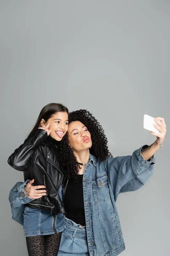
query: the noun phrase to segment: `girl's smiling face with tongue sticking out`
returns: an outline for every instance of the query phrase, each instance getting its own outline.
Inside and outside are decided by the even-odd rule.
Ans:
[[[44,119],[41,120],[42,127],[45,127],[48,123],[50,123],[48,129],[52,130],[50,136],[54,140],[60,141],[68,131],[68,113],[57,112],[47,122]]]

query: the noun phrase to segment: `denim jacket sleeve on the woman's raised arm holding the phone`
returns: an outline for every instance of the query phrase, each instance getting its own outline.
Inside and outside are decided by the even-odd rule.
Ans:
[[[142,187],[153,174],[153,155],[146,161],[141,154],[147,145],[135,150],[132,156],[108,158],[108,179],[115,201],[120,193],[135,191]]]

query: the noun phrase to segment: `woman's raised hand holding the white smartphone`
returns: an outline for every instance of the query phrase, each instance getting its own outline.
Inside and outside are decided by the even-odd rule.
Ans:
[[[156,143],[161,148],[163,146],[163,143],[164,143],[165,135],[166,135],[166,132],[167,132],[167,126],[166,126],[166,123],[164,121],[164,118],[162,118],[162,117],[156,117],[156,118],[154,118],[154,121],[156,122],[156,124],[153,124],[153,125],[156,129],[158,129],[158,131],[160,131],[160,133],[158,134],[158,133],[155,133],[155,132],[151,131],[151,134],[153,134],[154,136],[157,137]]]

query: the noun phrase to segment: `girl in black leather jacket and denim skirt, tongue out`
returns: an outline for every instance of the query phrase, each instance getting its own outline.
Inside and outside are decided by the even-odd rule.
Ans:
[[[8,158],[11,167],[24,171],[25,193],[21,193],[21,198],[25,200],[23,225],[29,256],[58,253],[65,228],[65,209],[59,197],[63,173],[58,146],[67,130],[68,109],[50,103],[42,108],[28,138]]]

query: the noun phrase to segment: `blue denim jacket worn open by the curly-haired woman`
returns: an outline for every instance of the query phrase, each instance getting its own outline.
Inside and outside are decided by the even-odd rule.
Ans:
[[[116,256],[125,250],[115,202],[120,193],[141,188],[153,174],[156,157],[151,157],[149,161],[144,160],[141,150],[146,147],[147,145],[144,145],[134,151],[132,156],[108,157],[103,162],[99,162],[96,157],[90,155],[83,175],[85,219],[90,256]],[[18,187],[18,194],[10,192],[13,204],[9,198],[13,219],[20,223],[23,223],[21,220],[22,204],[28,200],[28,198],[21,198],[23,186]],[[18,217],[16,217],[17,215]]]

